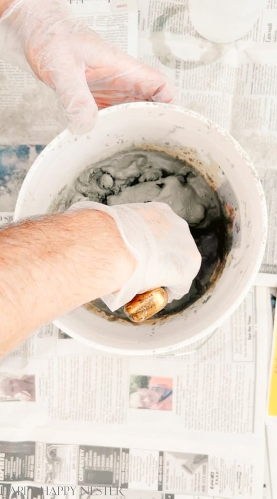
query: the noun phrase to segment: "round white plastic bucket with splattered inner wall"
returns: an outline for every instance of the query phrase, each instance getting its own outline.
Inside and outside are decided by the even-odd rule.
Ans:
[[[109,322],[79,307],[55,321],[70,336],[110,353],[156,355],[199,341],[220,326],[250,289],[262,262],[267,212],[249,158],[224,130],[202,116],[160,103],[131,103],[100,111],[84,136],[68,130],[38,156],[20,190],[15,220],[48,211],[60,190],[86,166],[131,147],[177,153],[216,186],[234,216],[233,246],[215,285],[188,309],[156,324]]]

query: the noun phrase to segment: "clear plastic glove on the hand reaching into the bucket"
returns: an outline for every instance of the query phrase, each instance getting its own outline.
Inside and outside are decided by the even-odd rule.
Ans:
[[[159,286],[169,301],[188,293],[201,266],[201,255],[187,222],[165,203],[133,203],[113,207],[83,201],[69,210],[94,209],[112,217],[128,250],[137,260],[128,281],[116,293],[101,296],[111,311],[136,294]],[[111,241],[112,245],[112,241]]]

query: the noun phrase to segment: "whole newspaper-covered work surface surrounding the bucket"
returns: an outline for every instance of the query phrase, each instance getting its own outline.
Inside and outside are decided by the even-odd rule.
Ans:
[[[228,129],[261,176],[259,286],[205,343],[107,355],[52,324],[0,361],[0,499],[270,498],[265,411],[277,287],[277,0],[231,44],[201,38],[186,0],[70,0],[100,34],[165,72],[184,106]],[[0,223],[64,128],[51,90],[0,62]],[[159,394],[159,397],[156,394]],[[265,466],[266,463],[266,466]]]

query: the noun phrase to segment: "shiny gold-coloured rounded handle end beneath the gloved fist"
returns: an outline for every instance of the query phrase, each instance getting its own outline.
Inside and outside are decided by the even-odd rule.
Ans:
[[[137,294],[126,303],[124,312],[132,322],[143,322],[160,312],[168,302],[167,292],[163,287]]]

